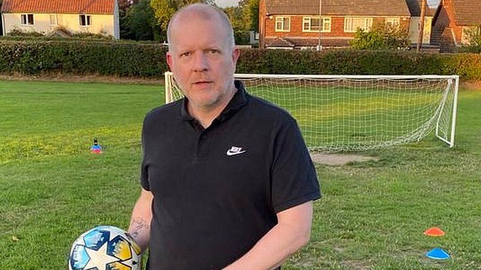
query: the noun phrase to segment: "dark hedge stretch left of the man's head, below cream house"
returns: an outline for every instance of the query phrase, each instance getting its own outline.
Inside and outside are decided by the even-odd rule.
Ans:
[[[0,73],[161,77],[161,44],[108,41],[0,41]]]

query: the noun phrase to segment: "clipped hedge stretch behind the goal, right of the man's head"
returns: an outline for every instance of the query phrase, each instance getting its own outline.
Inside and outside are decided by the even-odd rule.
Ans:
[[[238,73],[272,74],[459,74],[481,80],[481,55],[416,54],[406,51],[242,50]]]

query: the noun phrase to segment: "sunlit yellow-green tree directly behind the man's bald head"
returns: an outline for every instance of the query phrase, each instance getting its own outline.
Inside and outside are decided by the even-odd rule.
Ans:
[[[154,16],[163,32],[167,32],[169,20],[181,7],[192,3],[206,3],[215,6],[214,0],[151,0],[150,6],[154,10]]]

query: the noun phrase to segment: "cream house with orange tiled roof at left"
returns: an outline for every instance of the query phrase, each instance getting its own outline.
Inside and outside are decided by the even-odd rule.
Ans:
[[[117,0],[3,0],[3,34],[11,30],[52,33],[59,27],[120,37]]]

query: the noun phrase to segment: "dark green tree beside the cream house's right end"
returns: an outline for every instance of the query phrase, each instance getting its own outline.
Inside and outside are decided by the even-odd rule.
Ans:
[[[138,0],[126,9],[121,37],[134,40],[165,40],[149,0]]]

